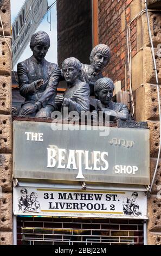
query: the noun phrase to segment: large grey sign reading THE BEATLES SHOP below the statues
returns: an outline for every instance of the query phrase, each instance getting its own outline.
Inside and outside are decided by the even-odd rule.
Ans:
[[[101,137],[55,127],[14,121],[15,178],[149,185],[149,130],[105,127]]]

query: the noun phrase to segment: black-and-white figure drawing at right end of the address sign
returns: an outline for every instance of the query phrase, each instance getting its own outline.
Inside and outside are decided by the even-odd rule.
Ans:
[[[123,202],[123,211],[125,215],[140,216],[139,205],[136,203],[138,193],[135,191],[130,198],[126,198],[126,202]]]

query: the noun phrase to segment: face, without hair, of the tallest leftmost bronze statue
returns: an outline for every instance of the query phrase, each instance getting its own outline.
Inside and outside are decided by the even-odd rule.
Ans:
[[[33,47],[32,51],[33,51],[34,57],[38,60],[38,62],[41,62],[44,59],[44,57],[46,57],[48,49],[49,49],[49,46],[43,45],[43,44],[37,44]]]

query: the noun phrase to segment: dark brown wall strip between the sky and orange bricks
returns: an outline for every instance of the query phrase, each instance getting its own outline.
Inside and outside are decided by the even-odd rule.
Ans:
[[[89,63],[92,50],[92,9],[89,0],[57,1],[57,58]]]

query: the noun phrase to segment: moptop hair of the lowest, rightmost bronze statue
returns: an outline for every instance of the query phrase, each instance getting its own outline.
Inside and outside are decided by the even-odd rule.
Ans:
[[[112,89],[112,90],[114,90],[113,81],[108,77],[98,79],[95,82],[95,85],[94,85],[94,92],[98,93],[102,89]]]

